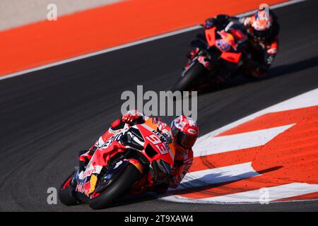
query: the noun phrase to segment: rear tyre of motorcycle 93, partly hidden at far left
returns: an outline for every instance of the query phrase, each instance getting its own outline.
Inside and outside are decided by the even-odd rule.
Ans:
[[[59,188],[59,201],[65,206],[74,206],[81,203],[75,198],[74,194],[75,189],[71,186],[71,176],[69,176]]]

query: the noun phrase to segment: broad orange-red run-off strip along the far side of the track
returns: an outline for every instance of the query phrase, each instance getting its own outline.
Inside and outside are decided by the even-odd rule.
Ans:
[[[278,4],[285,0],[267,0]],[[252,11],[261,0],[131,0],[0,32],[0,75]]]

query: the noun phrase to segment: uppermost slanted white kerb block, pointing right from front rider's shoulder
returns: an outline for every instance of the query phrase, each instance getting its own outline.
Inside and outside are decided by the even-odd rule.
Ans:
[[[261,129],[259,131],[247,133],[210,137],[208,139],[204,139],[203,141],[198,140],[194,147],[194,157],[225,153],[232,150],[241,150],[265,145],[280,133],[283,133],[294,125],[295,124],[290,124],[287,126],[278,126],[271,129]]]

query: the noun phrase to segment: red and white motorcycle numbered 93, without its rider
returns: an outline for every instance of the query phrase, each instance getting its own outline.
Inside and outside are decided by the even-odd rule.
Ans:
[[[76,167],[61,184],[61,203],[105,208],[126,194],[148,191],[170,174],[175,149],[153,119],[125,126],[118,133],[108,131],[106,139],[86,168]]]

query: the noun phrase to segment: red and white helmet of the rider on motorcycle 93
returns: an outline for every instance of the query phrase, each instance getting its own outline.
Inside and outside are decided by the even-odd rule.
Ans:
[[[199,126],[194,119],[180,115],[171,122],[170,133],[174,143],[184,149],[190,149],[199,136]]]

